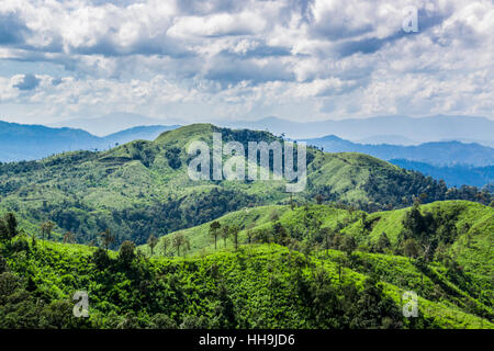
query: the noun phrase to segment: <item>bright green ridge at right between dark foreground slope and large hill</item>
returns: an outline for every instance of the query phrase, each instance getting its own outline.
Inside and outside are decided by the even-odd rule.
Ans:
[[[278,244],[333,263],[338,263],[341,251],[352,252],[347,263],[358,273],[378,274],[383,282],[419,292],[427,299],[492,319],[494,208],[448,201],[423,205],[419,215],[414,215],[414,210],[367,215],[326,205],[245,208],[217,219],[216,249],[211,223],[206,223],[165,236],[154,253],[177,256],[177,237],[186,238],[182,254],[192,258],[234,252],[235,242]],[[414,226],[422,223],[428,231],[416,230]],[[237,239],[234,233],[238,233]],[[417,242],[418,250],[407,259],[409,239]],[[350,249],[348,242],[355,242]],[[139,249],[150,254],[149,246]]]

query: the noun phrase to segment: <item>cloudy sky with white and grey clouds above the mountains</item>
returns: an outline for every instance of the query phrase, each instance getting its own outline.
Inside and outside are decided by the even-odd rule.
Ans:
[[[1,0],[0,120],[494,118],[493,33],[480,0]]]

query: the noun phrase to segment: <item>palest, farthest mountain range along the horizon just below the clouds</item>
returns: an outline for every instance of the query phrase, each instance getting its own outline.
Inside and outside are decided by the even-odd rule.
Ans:
[[[434,115],[408,117],[400,115],[350,118],[338,121],[291,122],[278,117],[257,121],[203,120],[228,128],[269,131],[290,138],[318,138],[337,135],[360,144],[418,145],[429,141],[458,140],[494,147],[494,121],[474,116]],[[136,126],[183,125],[172,118],[150,118],[141,114],[114,112],[99,117],[77,118],[50,124],[52,127],[85,129],[97,136],[104,136]]]

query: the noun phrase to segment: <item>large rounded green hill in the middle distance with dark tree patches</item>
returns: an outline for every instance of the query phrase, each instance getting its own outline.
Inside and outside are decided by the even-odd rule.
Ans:
[[[108,151],[66,152],[40,161],[0,166],[0,211],[13,211],[33,229],[55,222],[54,237],[70,230],[78,242],[96,240],[106,228],[144,244],[217,218],[243,207],[288,204],[284,181],[193,181],[186,147],[192,140],[272,141],[267,132],[232,131],[198,124],[165,132],[154,141],[137,140]],[[338,202],[371,212],[411,205],[414,197],[431,202],[467,199],[491,202],[475,189],[447,189],[431,178],[360,154],[324,154],[307,149],[307,188],[295,203]]]

